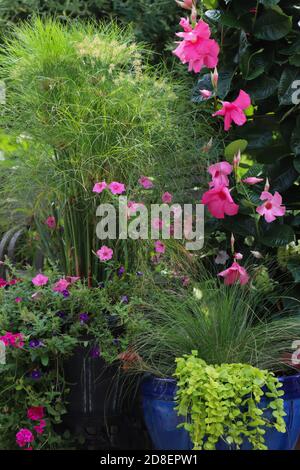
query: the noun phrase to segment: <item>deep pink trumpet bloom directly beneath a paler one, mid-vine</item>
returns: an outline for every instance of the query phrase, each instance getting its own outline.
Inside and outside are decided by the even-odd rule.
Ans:
[[[214,217],[224,219],[225,215],[236,215],[239,206],[233,201],[226,186],[218,186],[206,191],[202,196],[202,204],[205,204]]]

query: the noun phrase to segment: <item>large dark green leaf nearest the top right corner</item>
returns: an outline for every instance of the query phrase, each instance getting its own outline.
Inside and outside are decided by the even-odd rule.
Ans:
[[[290,16],[269,10],[256,21],[254,36],[264,41],[276,41],[284,38],[291,29],[292,18]]]

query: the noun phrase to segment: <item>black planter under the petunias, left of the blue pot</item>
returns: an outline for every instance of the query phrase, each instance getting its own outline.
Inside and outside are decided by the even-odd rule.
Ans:
[[[83,346],[65,362],[64,371],[70,394],[63,428],[81,437],[82,448],[149,449],[136,381]]]

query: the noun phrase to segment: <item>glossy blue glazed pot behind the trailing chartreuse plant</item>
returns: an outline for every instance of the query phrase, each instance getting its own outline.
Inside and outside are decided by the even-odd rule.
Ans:
[[[267,429],[265,441],[269,450],[292,450],[300,436],[300,374],[279,380],[283,383],[287,432]],[[184,420],[174,410],[175,380],[149,377],[144,380],[141,391],[144,419],[155,449],[192,450],[187,431],[177,429]],[[266,402],[267,399],[262,404]],[[230,450],[230,447],[222,441],[218,443],[217,450]],[[250,444],[245,441],[241,450],[251,450]]]

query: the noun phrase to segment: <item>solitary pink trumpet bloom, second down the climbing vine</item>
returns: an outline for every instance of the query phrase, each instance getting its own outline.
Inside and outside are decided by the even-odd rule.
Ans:
[[[240,90],[239,96],[232,103],[222,101],[222,109],[213,114],[213,116],[224,116],[224,129],[228,131],[232,121],[238,126],[243,126],[247,121],[244,110],[251,105],[251,99],[248,93]]]

